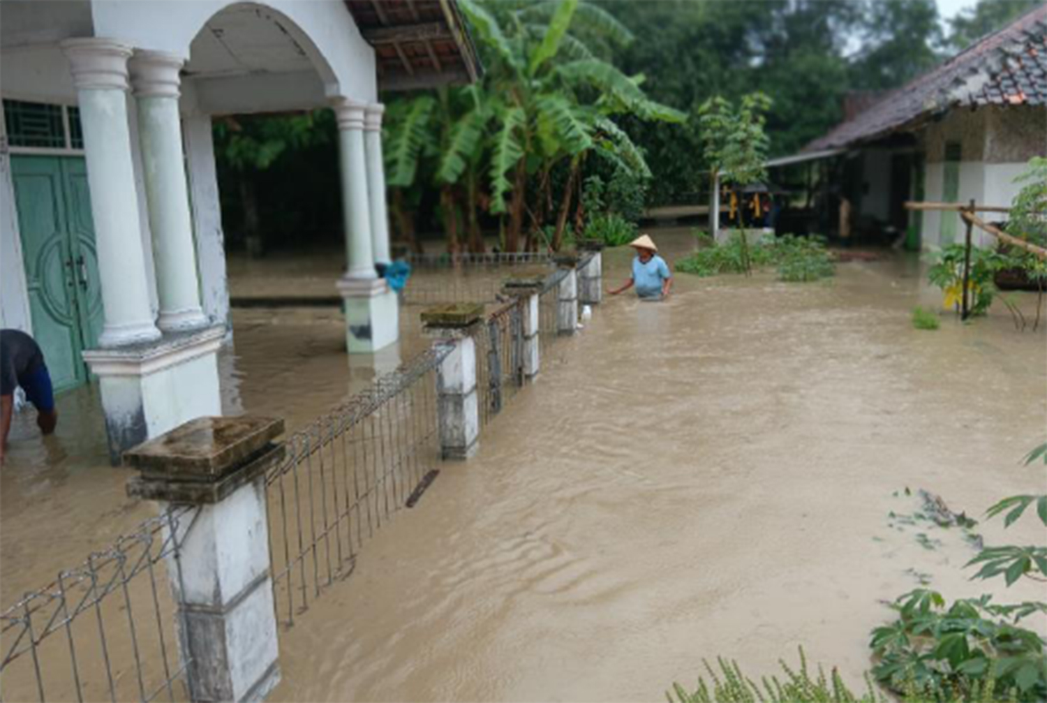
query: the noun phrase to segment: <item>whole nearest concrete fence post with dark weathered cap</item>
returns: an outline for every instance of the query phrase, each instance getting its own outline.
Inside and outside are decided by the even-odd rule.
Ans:
[[[190,698],[261,701],[280,682],[265,476],[284,421],[203,417],[129,449],[128,493],[192,506],[166,556]]]

